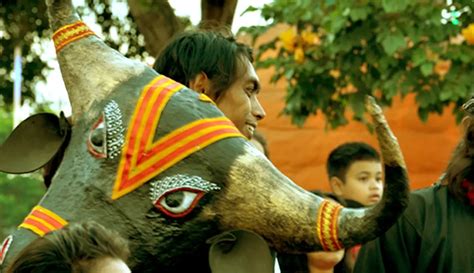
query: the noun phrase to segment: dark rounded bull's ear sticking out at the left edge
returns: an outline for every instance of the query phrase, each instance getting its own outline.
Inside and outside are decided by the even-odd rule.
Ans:
[[[64,115],[33,115],[18,125],[0,146],[0,171],[28,173],[43,167],[67,141],[70,125]]]

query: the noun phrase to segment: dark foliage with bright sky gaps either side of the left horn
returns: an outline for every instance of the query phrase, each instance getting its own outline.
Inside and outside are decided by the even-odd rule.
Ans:
[[[95,17],[102,27],[102,37],[112,48],[128,57],[143,59],[147,56],[143,36],[138,32],[130,13],[125,17],[113,13],[112,2],[86,0],[85,5],[77,10],[81,16]],[[45,1],[1,0],[0,101],[7,109],[13,99],[14,48],[19,46],[23,55],[22,97],[35,101],[35,86],[46,80],[50,69],[44,55],[45,44],[52,43],[51,36]]]

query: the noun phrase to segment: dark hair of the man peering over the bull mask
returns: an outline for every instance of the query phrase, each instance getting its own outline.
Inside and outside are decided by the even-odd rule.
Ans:
[[[243,61],[253,62],[252,49],[217,31],[187,31],[159,54],[153,69],[184,85],[204,72],[212,83],[213,99],[239,77]]]

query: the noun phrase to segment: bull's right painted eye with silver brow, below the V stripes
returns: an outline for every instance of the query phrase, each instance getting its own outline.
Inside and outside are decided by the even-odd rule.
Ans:
[[[167,216],[188,215],[205,193],[220,190],[214,183],[199,176],[174,175],[151,183],[153,205]]]

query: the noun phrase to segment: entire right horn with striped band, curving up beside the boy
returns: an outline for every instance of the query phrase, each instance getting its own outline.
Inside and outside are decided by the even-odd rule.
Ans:
[[[215,206],[206,210],[207,215],[218,215],[223,229],[257,232],[282,252],[334,251],[383,234],[407,206],[408,178],[382,110],[373,99],[366,105],[374,119],[386,175],[385,193],[377,206],[349,209],[324,200],[248,152],[234,163],[229,172],[233,182],[227,185],[225,197],[219,196]]]

